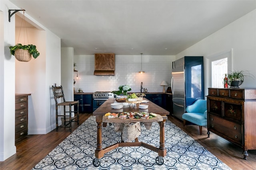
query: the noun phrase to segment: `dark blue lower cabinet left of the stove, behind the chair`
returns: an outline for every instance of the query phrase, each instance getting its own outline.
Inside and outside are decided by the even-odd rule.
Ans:
[[[79,113],[92,113],[92,94],[74,94],[74,101],[79,102]]]

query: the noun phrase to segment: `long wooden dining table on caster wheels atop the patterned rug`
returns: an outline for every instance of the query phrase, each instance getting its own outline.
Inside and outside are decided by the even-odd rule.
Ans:
[[[104,102],[98,109],[93,112],[93,115],[96,117],[97,123],[97,148],[95,150],[95,158],[93,160],[93,165],[95,167],[100,166],[100,158],[104,156],[105,153],[110,152],[117,147],[145,147],[147,149],[153,150],[154,152],[158,153],[156,157],[156,164],[162,165],[164,164],[164,156],[166,156],[166,148],[164,146],[164,123],[167,120],[167,115],[169,115],[169,111],[165,110],[164,108],[154,104],[153,102],[143,98],[144,102],[138,102],[136,104],[124,106],[121,109],[112,109],[111,104],[116,103],[116,98],[109,98]],[[122,104],[122,103],[120,103]],[[147,109],[140,109],[138,106],[146,104],[148,105]],[[155,113],[157,114],[156,117],[152,119],[108,119],[105,116],[106,113],[122,113],[122,112],[148,112],[148,113]],[[160,127],[160,142],[159,147],[152,146],[148,143],[139,142],[138,138],[135,139],[135,142],[124,142],[120,141],[114,145],[109,147],[103,148],[102,147],[102,127],[106,127],[107,123],[130,123],[130,122],[140,122],[141,124],[147,125],[146,129],[150,128],[148,125],[152,124],[152,122],[158,122]]]

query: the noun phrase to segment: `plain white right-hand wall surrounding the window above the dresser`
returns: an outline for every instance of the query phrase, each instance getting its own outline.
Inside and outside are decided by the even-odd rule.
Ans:
[[[256,88],[256,10],[182,51],[176,55],[176,59],[186,55],[208,57],[223,51],[230,51],[231,49],[233,49],[233,70],[249,70],[255,76],[254,79],[245,77],[244,83],[239,87]],[[205,67],[205,72],[206,70],[207,67]],[[205,81],[208,78],[206,77]],[[208,94],[208,87],[210,85],[206,84],[205,94]]]

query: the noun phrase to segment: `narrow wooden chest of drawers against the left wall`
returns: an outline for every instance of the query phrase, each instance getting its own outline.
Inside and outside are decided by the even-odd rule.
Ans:
[[[28,96],[15,95],[15,141],[28,135]]]

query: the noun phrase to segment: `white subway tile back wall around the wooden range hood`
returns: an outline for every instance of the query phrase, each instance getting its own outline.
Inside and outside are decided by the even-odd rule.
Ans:
[[[162,92],[162,80],[166,80],[168,84],[171,82],[172,61],[175,56],[142,55],[143,74],[138,73],[141,70],[141,55],[116,55],[115,60],[115,76],[95,76],[94,55],[75,55],[74,62],[78,70],[78,80],[74,72],[76,92],[78,88],[83,92],[112,91],[124,84],[131,86],[131,92],[139,92],[141,82],[148,92]]]

